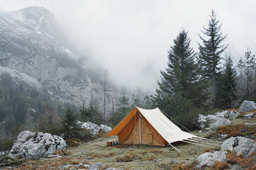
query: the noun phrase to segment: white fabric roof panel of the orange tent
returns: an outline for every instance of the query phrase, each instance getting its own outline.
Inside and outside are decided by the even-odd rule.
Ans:
[[[138,107],[137,107],[138,108]],[[146,120],[156,129],[159,134],[164,137],[164,140],[171,144],[172,142],[178,142],[188,140],[188,138],[197,137],[188,132],[182,131],[177,125],[171,122],[159,108],[151,110],[138,108]]]

